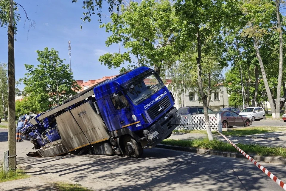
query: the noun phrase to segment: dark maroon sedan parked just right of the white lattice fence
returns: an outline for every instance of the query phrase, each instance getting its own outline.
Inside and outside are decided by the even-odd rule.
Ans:
[[[233,111],[214,111],[211,114],[220,115],[221,125],[223,128],[233,127],[233,126],[245,126],[251,125],[251,120],[247,117],[238,115]]]

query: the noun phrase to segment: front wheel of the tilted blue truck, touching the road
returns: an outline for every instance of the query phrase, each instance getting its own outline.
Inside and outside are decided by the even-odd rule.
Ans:
[[[125,152],[128,156],[139,158],[143,154],[143,148],[141,147],[141,144],[136,142],[132,137],[125,136],[123,143]]]

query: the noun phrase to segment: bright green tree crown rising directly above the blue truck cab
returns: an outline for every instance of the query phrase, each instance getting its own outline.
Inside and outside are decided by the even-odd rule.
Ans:
[[[121,72],[136,66],[148,66],[160,73],[177,60],[178,18],[169,1],[144,0],[140,4],[131,1],[122,6],[121,12],[113,13],[112,22],[100,27],[112,33],[105,42],[107,47],[120,43],[128,51],[106,53],[99,58],[101,64],[111,69],[129,63]]]

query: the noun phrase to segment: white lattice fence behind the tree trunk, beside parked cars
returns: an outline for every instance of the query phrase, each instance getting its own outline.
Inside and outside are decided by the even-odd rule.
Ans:
[[[217,115],[209,115],[209,122],[212,130],[216,128],[221,132],[220,117],[217,117]],[[205,116],[203,114],[182,117],[180,124],[182,125],[176,127],[176,130],[206,130]]]

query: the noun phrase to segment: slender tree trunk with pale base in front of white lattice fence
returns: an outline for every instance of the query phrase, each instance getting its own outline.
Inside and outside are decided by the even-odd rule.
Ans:
[[[202,67],[200,65],[200,61],[202,58],[201,55],[201,44],[200,44],[200,29],[199,25],[197,24],[197,42],[198,42],[198,57],[197,57],[197,70],[198,70],[198,86],[199,86],[199,92],[200,96],[202,97],[203,101],[203,110],[204,110],[204,116],[205,116],[205,122],[206,122],[206,132],[208,134],[208,138],[210,141],[212,141],[214,138],[212,137],[212,130],[209,123],[209,113],[208,113],[208,103],[206,94],[203,92],[203,83],[202,83]]]

